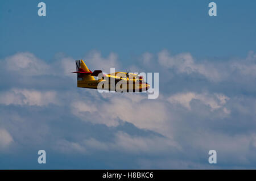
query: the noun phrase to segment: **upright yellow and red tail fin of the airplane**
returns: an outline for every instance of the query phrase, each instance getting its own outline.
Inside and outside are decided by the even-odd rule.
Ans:
[[[76,60],[77,81],[94,81],[92,71],[88,69],[83,60]]]

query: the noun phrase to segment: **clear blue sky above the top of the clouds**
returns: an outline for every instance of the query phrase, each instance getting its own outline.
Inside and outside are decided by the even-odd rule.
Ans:
[[[214,57],[246,56],[256,47],[254,1],[215,1],[214,18],[210,1],[44,1],[44,18],[38,2],[1,2],[0,57],[30,51],[51,61],[56,52],[79,58],[97,49],[133,61],[162,49]]]

